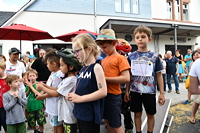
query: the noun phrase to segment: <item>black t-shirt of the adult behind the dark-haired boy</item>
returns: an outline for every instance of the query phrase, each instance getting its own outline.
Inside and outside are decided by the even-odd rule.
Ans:
[[[51,72],[47,68],[47,65],[42,61],[42,57],[36,59],[31,68],[35,69],[38,72],[37,81],[47,81]]]

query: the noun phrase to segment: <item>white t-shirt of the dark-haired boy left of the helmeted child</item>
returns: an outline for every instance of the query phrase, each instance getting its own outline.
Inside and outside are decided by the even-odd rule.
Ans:
[[[64,77],[61,71],[51,73],[46,84],[51,87],[58,87],[62,81],[61,77]],[[52,116],[58,116],[58,97],[46,98],[46,112]]]

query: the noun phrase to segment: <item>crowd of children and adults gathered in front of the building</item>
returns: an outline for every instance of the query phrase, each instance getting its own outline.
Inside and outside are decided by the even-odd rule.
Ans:
[[[103,29],[97,37],[77,35],[72,39],[72,50],[40,49],[37,59],[27,52],[19,60],[17,48],[9,50],[8,60],[0,55],[0,126],[6,133],[25,133],[27,122],[34,133],[43,133],[47,113],[54,133],[100,133],[102,121],[108,133],[132,133],[134,124],[136,133],[142,133],[144,106],[147,133],[153,133],[156,88],[160,92],[158,103],[163,105],[166,75],[169,93],[173,76],[180,94],[182,62],[186,61],[189,73],[187,62],[196,60],[197,55],[189,55],[188,50],[183,58],[180,50],[176,56],[167,51],[163,59],[148,49],[151,29],[138,26],[133,36],[138,46],[134,52],[130,52],[127,41],[115,37],[113,30]],[[193,66],[198,67],[195,63]],[[194,75],[193,71],[191,79],[196,78]],[[197,88],[197,84],[191,87]],[[192,93],[199,92],[192,89]],[[193,123],[198,106],[199,102],[193,105]]]

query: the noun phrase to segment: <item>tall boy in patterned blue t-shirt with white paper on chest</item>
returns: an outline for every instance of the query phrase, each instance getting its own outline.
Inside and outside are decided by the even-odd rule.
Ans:
[[[147,114],[148,131],[152,133],[154,128],[154,115],[156,113],[156,78],[160,88],[158,102],[160,105],[165,103],[163,78],[161,71],[162,63],[157,54],[148,50],[148,43],[152,40],[151,29],[139,26],[134,31],[134,41],[138,50],[129,54],[131,62],[131,108],[134,112],[136,133],[141,133],[142,104]],[[129,99],[129,89],[126,88],[125,98]]]

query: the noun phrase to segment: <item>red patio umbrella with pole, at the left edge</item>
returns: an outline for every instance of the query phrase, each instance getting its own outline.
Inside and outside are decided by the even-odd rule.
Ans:
[[[42,39],[54,39],[48,32],[35,29],[23,24],[14,24],[0,28],[0,40],[21,40],[35,41]]]

